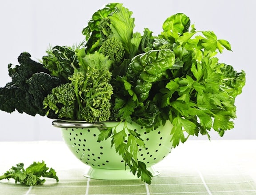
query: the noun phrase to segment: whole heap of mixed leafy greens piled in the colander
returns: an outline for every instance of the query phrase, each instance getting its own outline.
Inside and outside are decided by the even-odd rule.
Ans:
[[[210,138],[212,129],[220,136],[232,129],[245,72],[216,57],[232,51],[228,41],[197,31],[183,13],[168,17],[157,36],[148,28],[133,32],[134,27],[128,8],[107,4],[88,21],[81,44],[49,48],[41,64],[21,54],[20,66],[8,66],[12,82],[0,88],[0,109],[138,123],[147,132],[169,120],[174,147],[190,135]],[[102,130],[99,141],[104,139],[112,140],[134,175],[151,182],[151,173],[137,160],[138,146],[144,146],[139,134],[124,125],[121,132]]]

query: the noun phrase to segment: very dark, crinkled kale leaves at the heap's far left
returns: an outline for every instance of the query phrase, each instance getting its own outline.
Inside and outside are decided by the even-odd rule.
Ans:
[[[0,88],[0,109],[7,112],[15,110],[29,115],[45,115],[43,109],[44,97],[52,88],[60,84],[57,77],[49,75],[49,71],[34,60],[31,55],[23,52],[18,57],[20,65],[12,68],[8,65],[12,82]],[[52,113],[49,115],[51,116]]]

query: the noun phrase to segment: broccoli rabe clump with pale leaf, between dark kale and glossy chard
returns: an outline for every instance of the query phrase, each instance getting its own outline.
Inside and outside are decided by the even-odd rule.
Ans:
[[[55,111],[60,119],[108,121],[113,93],[108,59],[95,53],[79,56],[79,62],[80,68],[68,77],[70,83],[53,88],[44,99],[44,108],[48,108],[48,113]]]

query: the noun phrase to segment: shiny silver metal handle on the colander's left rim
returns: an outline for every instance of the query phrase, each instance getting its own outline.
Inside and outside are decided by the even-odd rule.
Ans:
[[[88,123],[85,121],[72,121],[72,120],[54,120],[52,121],[54,127],[62,128],[98,128],[99,130],[106,129],[104,123]]]

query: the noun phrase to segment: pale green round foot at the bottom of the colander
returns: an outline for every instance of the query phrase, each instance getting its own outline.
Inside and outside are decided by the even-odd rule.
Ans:
[[[153,177],[160,174],[154,167],[147,167]],[[136,175],[130,172],[130,169],[99,169],[91,167],[87,173],[84,173],[85,177],[91,179],[102,179],[102,180],[122,180],[122,179],[138,179]]]

